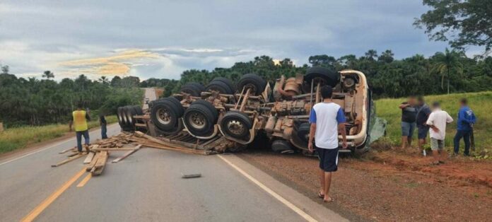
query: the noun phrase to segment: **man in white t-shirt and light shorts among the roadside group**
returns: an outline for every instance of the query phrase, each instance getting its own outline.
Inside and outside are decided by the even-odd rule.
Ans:
[[[452,122],[452,117],[446,111],[440,109],[440,104],[434,102],[432,112],[427,119],[427,125],[430,127],[430,148],[434,165],[444,163],[445,153],[444,139],[446,137],[446,124]]]

